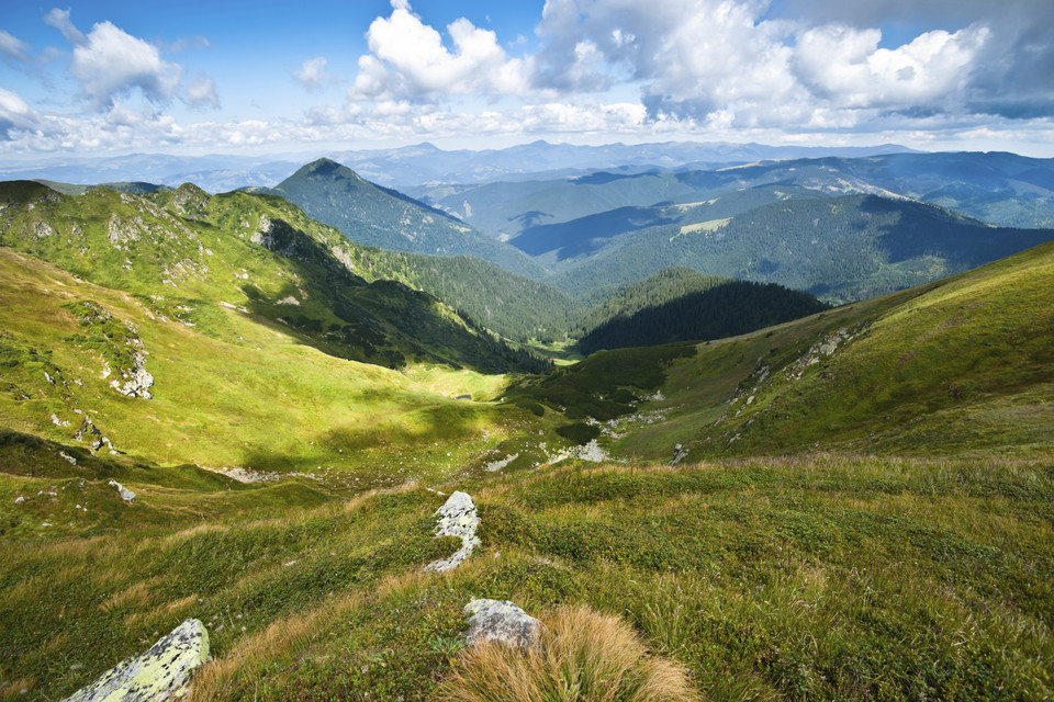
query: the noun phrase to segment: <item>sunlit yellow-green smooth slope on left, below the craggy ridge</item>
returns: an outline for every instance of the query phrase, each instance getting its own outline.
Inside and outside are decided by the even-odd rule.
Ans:
[[[106,339],[98,322],[82,325],[70,306],[82,301],[135,329],[153,399],[111,387],[128,344]],[[229,308],[211,319],[224,331],[217,338],[9,249],[0,249],[0,303],[4,426],[74,445],[88,445],[90,437],[75,439],[88,418],[117,450],[162,464],[333,466],[386,484],[460,465],[516,415],[453,399],[496,389],[469,371],[428,366],[412,378],[325,354]],[[440,451],[440,440],[457,448]]]

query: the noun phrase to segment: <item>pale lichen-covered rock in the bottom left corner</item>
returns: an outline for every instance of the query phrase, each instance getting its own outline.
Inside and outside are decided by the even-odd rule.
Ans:
[[[126,658],[63,702],[168,702],[190,691],[190,675],[209,660],[209,632],[188,619],[141,656]]]

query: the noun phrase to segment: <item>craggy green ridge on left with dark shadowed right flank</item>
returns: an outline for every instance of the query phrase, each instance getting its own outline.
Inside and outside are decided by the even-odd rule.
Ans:
[[[209,196],[192,185],[152,197],[105,189],[68,197],[36,183],[8,183],[0,192],[7,203],[0,244],[136,294],[158,314],[220,338],[223,326],[211,320],[226,305],[282,325],[326,353],[391,367],[537,366],[434,297],[356,275],[356,247],[281,199]]]

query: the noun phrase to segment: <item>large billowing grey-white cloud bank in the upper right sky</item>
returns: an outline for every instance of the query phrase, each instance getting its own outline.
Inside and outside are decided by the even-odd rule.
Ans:
[[[811,4],[826,7],[822,0]],[[907,11],[927,3],[838,4],[849,8],[841,11],[848,15],[864,4]],[[889,48],[881,46],[875,26],[807,23],[772,10],[764,0],[548,0],[537,29],[542,47],[530,57],[532,78],[536,86],[562,91],[638,84],[652,118],[828,128],[851,127],[887,111],[968,113],[985,94],[986,72],[994,93],[1007,83],[1008,69],[993,69],[1001,44],[998,23],[977,20],[955,32],[920,32]],[[1054,60],[1043,67],[1054,68]],[[1039,68],[1024,72],[1035,76]]]

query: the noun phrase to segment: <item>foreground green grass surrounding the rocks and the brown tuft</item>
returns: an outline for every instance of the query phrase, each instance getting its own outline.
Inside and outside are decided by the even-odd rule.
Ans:
[[[460,608],[491,597],[617,616],[714,700],[1054,689],[1043,463],[569,466],[461,487],[484,544],[449,575],[421,573],[455,547],[428,537],[444,498],[424,489],[249,518],[189,490],[216,495],[208,514],[7,540],[0,676],[65,695],[198,616],[216,659],[195,699],[423,700],[461,665]]]

